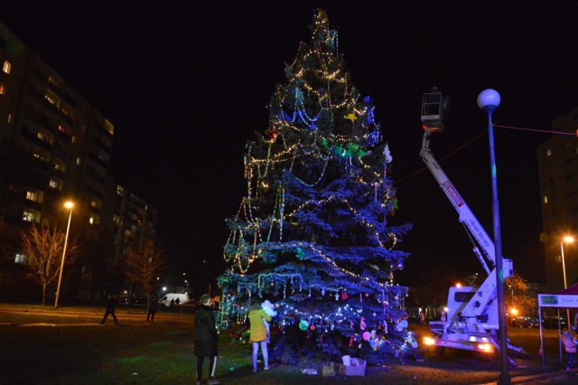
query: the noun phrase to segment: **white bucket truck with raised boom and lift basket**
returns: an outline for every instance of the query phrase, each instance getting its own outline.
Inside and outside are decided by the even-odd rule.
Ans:
[[[473,253],[486,271],[487,277],[479,287],[452,286],[447,301],[445,319],[430,322],[433,337],[427,337],[424,343],[435,346],[438,354],[444,348],[463,349],[474,352],[499,351],[499,316],[496,281],[495,247],[480,221],[461,198],[458,190],[443,173],[442,167],[433,157],[430,149],[430,137],[443,131],[443,113],[446,99],[441,92],[424,94],[422,101],[422,127],[424,138],[420,156],[424,164],[439,183],[453,208],[458,211],[458,219],[471,239]],[[504,279],[513,274],[511,259],[503,259]],[[508,349],[524,352],[521,348],[508,343]],[[510,360],[511,363],[513,363]]]

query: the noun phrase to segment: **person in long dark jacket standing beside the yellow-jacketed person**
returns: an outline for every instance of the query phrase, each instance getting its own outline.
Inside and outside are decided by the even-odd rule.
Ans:
[[[218,384],[215,380],[217,367],[217,341],[219,334],[215,326],[215,315],[210,295],[200,296],[200,305],[195,310],[195,355],[197,356],[197,384],[202,380],[202,364],[209,357],[209,384]]]

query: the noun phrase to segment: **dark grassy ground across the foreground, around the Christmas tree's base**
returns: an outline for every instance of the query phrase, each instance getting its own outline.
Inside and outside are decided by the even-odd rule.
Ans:
[[[107,324],[99,324],[103,314],[103,307],[75,306],[54,310],[51,306],[0,304],[0,343],[4,348],[0,359],[0,384],[195,383],[194,316],[191,313],[162,310],[152,324],[145,321],[144,308],[120,305],[117,308],[118,326],[110,318]],[[532,341],[536,340],[534,334]],[[528,340],[529,337],[519,338]],[[253,373],[249,345],[233,346],[229,334],[221,333],[217,378],[223,383],[251,385],[471,384],[495,383],[498,379],[496,361],[464,352],[453,354],[443,358],[426,354],[424,362],[369,366],[365,377],[346,377],[339,371],[335,377],[302,373],[306,368],[321,373],[321,362],[296,366],[273,363],[271,371]],[[550,357],[555,360],[554,352]],[[536,356],[522,363],[524,366],[512,371],[517,383],[566,383],[569,380],[564,369],[542,370]],[[207,366],[208,363],[204,368],[205,376]],[[578,379],[574,372],[571,375],[572,380]],[[523,380],[525,378],[527,380]]]

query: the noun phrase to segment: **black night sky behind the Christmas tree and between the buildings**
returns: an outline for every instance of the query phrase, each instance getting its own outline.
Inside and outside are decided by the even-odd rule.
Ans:
[[[386,4],[392,3],[392,4]],[[321,6],[340,33],[351,80],[370,95],[394,157],[400,209],[414,223],[400,284],[432,267],[479,271],[469,240],[419,152],[421,97],[452,98],[433,153],[489,234],[487,117],[476,99],[498,89],[499,125],[548,130],[578,106],[578,4],[462,2],[0,1],[0,22],[116,125],[111,174],[160,209],[160,235],[183,271],[223,268],[225,218],[244,190],[247,139],[267,127],[284,62],[309,39]],[[508,4],[502,4],[508,3]],[[530,5],[531,4],[531,5]],[[536,146],[549,136],[496,129],[504,255],[544,281]],[[413,176],[410,176],[413,175]]]

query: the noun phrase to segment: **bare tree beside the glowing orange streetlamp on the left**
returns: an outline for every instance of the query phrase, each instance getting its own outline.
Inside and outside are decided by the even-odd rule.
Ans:
[[[46,289],[59,277],[65,233],[58,227],[36,226],[20,231],[24,263],[28,268],[26,277],[42,286],[42,305],[46,305]],[[69,241],[65,264],[76,260],[79,245],[76,239]]]

